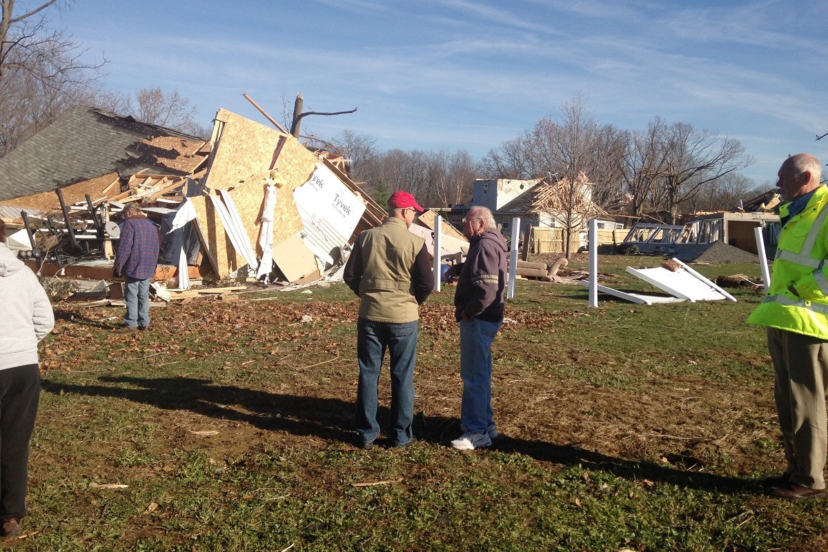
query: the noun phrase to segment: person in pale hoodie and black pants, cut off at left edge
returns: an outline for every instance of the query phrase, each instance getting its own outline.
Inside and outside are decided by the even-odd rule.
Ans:
[[[55,327],[46,290],[5,245],[0,220],[0,535],[26,515],[29,440],[40,401],[37,343]]]

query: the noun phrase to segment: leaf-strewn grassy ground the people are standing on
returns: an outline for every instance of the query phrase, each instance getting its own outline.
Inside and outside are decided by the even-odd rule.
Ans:
[[[602,283],[646,291],[601,257]],[[585,267],[585,259],[570,268]],[[695,266],[759,276],[758,266]],[[503,437],[461,453],[452,289],[421,310],[417,440],[354,447],[357,303],[329,288],[122,312],[55,305],[16,550],[823,550],[782,468],[758,304],[633,305],[518,281],[493,346]],[[388,416],[383,374],[381,412]]]

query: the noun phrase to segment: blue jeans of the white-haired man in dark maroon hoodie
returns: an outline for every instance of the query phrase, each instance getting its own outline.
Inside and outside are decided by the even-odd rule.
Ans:
[[[460,320],[460,377],[463,402],[460,429],[486,433],[494,424],[492,411],[492,342],[502,322]]]

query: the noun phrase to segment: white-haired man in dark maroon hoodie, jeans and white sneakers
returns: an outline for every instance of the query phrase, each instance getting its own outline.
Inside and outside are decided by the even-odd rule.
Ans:
[[[460,429],[451,441],[460,450],[491,446],[498,436],[492,410],[492,342],[503,324],[506,290],[506,240],[494,223],[492,212],[472,207],[463,218],[469,238],[465,262],[452,266],[448,276],[458,276],[455,319],[460,323]]]

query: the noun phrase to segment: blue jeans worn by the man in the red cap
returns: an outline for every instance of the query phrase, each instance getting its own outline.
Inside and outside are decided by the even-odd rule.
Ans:
[[[388,436],[394,444],[412,440],[414,421],[414,360],[418,320],[402,324],[357,321],[357,358],[359,358],[359,386],[357,387],[356,429],[363,443],[377,439],[377,401],[379,370],[385,350],[391,356],[391,431]]]

